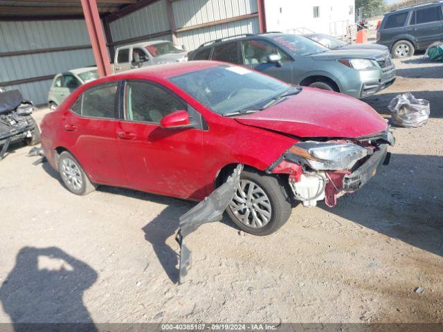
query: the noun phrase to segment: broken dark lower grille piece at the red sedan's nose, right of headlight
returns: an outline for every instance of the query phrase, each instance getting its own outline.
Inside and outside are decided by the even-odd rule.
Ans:
[[[379,148],[374,151],[374,154],[368,158],[359,168],[351,174],[343,177],[343,190],[346,192],[354,192],[359,190],[365,183],[368,183],[370,178],[375,175],[377,168],[382,163],[389,162],[388,145],[379,145]]]

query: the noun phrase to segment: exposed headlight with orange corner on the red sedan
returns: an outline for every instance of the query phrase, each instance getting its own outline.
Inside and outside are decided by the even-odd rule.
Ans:
[[[352,143],[298,142],[287,152],[303,158],[318,171],[349,169],[357,160],[368,156],[368,150]]]

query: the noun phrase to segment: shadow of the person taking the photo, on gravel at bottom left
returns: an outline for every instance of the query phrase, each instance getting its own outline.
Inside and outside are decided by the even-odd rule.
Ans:
[[[0,302],[16,332],[44,329],[34,323],[71,322],[98,331],[82,299],[97,277],[93,268],[60,248],[24,247],[0,287]]]

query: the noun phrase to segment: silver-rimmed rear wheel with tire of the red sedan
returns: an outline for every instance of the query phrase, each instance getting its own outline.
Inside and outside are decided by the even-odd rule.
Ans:
[[[96,186],[89,181],[80,163],[68,151],[60,154],[58,172],[65,187],[73,194],[82,196],[96,190]]]

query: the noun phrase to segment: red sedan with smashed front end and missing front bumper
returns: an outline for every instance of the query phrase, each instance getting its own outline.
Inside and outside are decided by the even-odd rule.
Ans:
[[[278,230],[297,201],[336,205],[393,144],[364,102],[219,62],[84,84],[42,122],[48,162],[79,195],[112,185],[199,201],[244,164],[227,212],[257,235]]]

